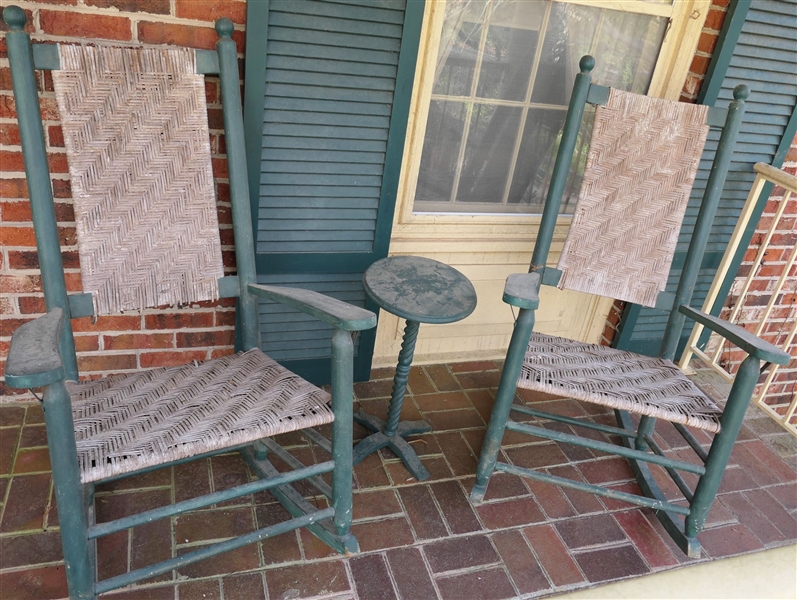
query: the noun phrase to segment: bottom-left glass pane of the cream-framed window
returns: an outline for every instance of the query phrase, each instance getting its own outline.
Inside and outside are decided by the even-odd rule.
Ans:
[[[467,117],[466,106],[464,102],[432,100],[415,191],[416,202],[450,201]]]

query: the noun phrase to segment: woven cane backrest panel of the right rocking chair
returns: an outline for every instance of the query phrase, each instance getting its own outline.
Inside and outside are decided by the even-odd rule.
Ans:
[[[592,142],[559,286],[654,306],[708,134],[708,107],[612,89]]]

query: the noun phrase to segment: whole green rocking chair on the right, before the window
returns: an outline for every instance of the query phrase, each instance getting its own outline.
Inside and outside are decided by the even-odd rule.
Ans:
[[[595,61],[581,59],[568,107],[540,231],[527,274],[510,275],[504,302],[518,307],[471,500],[484,499],[495,471],[587,491],[652,508],[689,556],[700,555],[703,527],[731,448],[758,380],[761,362],[786,364],[789,356],[747,331],[688,306],[749,92],[740,85],[727,110],[647,98],[590,82]],[[584,180],[556,269],[546,267],[561,199],[586,103],[598,105]],[[686,202],[709,126],[722,128],[713,168],[675,294],[664,292]],[[669,313],[658,358],[532,333],[540,285],[612,296]],[[745,350],[724,411],[672,362],[685,317],[702,323]],[[615,409],[618,427],[514,404],[516,387],[575,398]],[[566,426],[586,427],[622,439],[571,435],[509,419],[510,411]],[[629,412],[641,415],[634,430]],[[653,438],[657,419],[670,421],[700,461],[668,456]],[[713,432],[706,451],[686,428]],[[574,481],[499,462],[504,431],[539,436],[626,457],[643,495]],[[593,434],[594,435],[594,434]],[[666,470],[687,506],[665,497],[649,464]],[[679,470],[699,476],[690,489]]]

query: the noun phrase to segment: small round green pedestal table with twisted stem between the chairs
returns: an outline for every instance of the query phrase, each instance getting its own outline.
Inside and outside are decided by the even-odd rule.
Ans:
[[[418,256],[391,256],[375,262],[363,275],[363,285],[380,308],[405,319],[406,326],[387,420],[363,410],[354,413],[355,422],[374,432],[354,448],[354,464],[387,446],[415,479],[423,481],[429,477],[429,471],[404,438],[431,431],[432,426],[426,421],[399,423],[418,328],[421,323],[453,323],[464,319],[476,308],[476,290],[456,269]]]

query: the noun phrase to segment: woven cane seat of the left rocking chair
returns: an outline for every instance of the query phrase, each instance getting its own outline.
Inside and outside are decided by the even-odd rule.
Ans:
[[[84,483],[333,421],[329,394],[257,349],[68,385]]]

